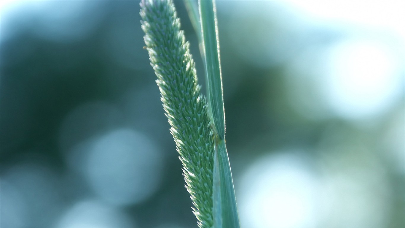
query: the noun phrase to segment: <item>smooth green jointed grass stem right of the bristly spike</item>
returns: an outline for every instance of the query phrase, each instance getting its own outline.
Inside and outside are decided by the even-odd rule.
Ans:
[[[209,106],[215,124],[213,216],[215,228],[239,228],[232,173],[225,146],[225,112],[219,54],[218,26],[213,0],[199,0]]]

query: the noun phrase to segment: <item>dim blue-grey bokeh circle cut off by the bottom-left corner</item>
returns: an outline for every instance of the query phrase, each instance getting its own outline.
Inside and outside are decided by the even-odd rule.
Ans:
[[[0,180],[0,227],[50,227],[62,211],[60,176],[33,160],[4,170]]]

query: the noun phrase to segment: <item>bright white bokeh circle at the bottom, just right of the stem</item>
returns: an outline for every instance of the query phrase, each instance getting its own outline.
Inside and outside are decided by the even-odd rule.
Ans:
[[[242,227],[315,227],[320,186],[296,153],[266,155],[250,166],[237,189]]]

